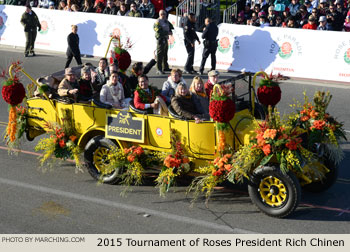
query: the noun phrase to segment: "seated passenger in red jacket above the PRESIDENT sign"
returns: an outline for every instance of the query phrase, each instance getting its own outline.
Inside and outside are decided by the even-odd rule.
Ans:
[[[138,81],[139,85],[134,92],[135,108],[143,110],[151,109],[155,114],[167,115],[165,97],[160,94],[160,90],[148,85],[148,77],[145,74],[140,75]]]

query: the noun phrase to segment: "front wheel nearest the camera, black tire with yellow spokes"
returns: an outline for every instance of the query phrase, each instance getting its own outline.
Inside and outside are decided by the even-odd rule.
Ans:
[[[248,192],[252,202],[263,213],[276,218],[293,213],[301,198],[296,176],[292,172],[284,174],[275,166],[257,168],[248,184]]]

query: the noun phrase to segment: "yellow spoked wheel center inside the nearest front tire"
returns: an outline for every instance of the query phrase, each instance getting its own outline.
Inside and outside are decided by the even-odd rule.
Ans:
[[[262,201],[272,207],[281,206],[287,199],[287,189],[276,177],[263,178],[258,190]]]

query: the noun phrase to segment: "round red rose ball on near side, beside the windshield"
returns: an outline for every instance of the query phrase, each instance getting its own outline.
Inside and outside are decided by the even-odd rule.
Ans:
[[[209,104],[209,114],[214,121],[228,123],[234,117],[236,105],[231,99],[212,100]]]

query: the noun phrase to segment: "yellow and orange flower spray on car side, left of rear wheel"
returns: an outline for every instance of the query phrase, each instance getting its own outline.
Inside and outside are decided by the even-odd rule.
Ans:
[[[73,159],[76,171],[82,171],[82,150],[77,144],[78,136],[73,126],[71,112],[62,110],[62,115],[62,125],[48,122],[45,130],[49,136],[40,139],[35,146],[35,151],[43,151],[43,155],[39,157],[40,166],[46,171],[46,166],[52,169],[58,160]]]

